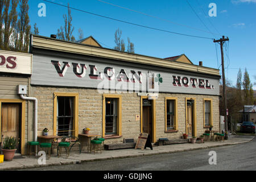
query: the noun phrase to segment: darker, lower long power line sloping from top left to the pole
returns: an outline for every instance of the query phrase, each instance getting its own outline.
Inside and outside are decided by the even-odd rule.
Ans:
[[[162,30],[162,29],[159,29],[159,28],[143,26],[143,25],[141,25],[141,24],[126,22],[126,21],[124,21],[124,20],[119,20],[119,19],[115,19],[115,18],[110,18],[110,17],[108,17],[108,16],[103,16],[103,15],[99,15],[99,14],[95,14],[95,13],[90,13],[89,11],[84,11],[84,10],[76,9],[76,8],[74,8],[74,7],[69,7],[69,6],[61,5],[61,4],[56,3],[56,2],[51,2],[51,1],[47,1],[47,0],[43,0],[43,1],[49,2],[49,3],[52,3],[52,4],[55,4],[55,5],[63,6],[63,7],[68,7],[68,8],[73,9],[73,10],[81,11],[81,12],[83,12],[83,13],[88,13],[88,14],[100,16],[100,17],[102,17],[102,18],[107,18],[107,19],[115,20],[115,21],[122,22],[122,23],[132,24],[132,25],[134,25],[134,26],[144,27],[144,28],[148,28],[148,29],[151,29],[151,30],[158,30],[158,31],[167,32],[167,33],[171,33],[171,34],[176,34],[176,35],[191,36],[191,37],[194,37],[194,38],[212,39],[212,38],[207,38],[207,37],[203,37],[203,36],[181,34],[181,33],[178,33],[178,32],[172,32],[172,31]],[[213,40],[213,39],[212,39],[212,40]]]

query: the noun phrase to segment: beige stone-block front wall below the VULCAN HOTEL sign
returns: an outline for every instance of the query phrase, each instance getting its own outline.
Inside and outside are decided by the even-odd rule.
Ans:
[[[84,127],[89,127],[93,133],[102,135],[102,99],[103,94],[94,89],[52,88],[31,86],[30,97],[38,98],[38,135],[47,127],[49,134],[53,130],[53,95],[55,92],[79,93],[79,134]],[[122,96],[122,137],[106,139],[105,143],[123,142],[123,138],[134,138],[137,141],[141,132],[141,121],[136,121],[136,115],[141,115],[141,97],[137,93],[116,93]],[[165,133],[165,97],[177,97],[177,132]],[[203,98],[211,98],[213,103],[214,130],[219,129],[218,96],[202,96],[190,94],[160,93],[156,100],[155,121],[156,140],[158,138],[177,139],[185,133],[185,98],[196,98],[197,136],[204,133]]]

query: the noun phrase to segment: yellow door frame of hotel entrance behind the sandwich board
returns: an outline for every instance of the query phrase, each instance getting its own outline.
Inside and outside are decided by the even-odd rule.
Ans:
[[[145,98],[148,99],[148,96],[141,96],[141,133],[143,132],[143,130],[142,130],[142,127],[143,127],[143,125],[142,125],[142,121],[143,121],[142,111],[143,111],[143,99],[145,99]],[[153,139],[151,142],[155,143],[156,142],[155,100],[152,100],[151,109],[152,109],[151,114],[152,114],[152,139]]]

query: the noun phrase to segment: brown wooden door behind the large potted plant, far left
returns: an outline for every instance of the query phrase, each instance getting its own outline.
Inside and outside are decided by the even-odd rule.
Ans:
[[[1,110],[1,135],[3,138],[15,137],[17,139],[17,148],[19,142],[19,104],[2,104]]]

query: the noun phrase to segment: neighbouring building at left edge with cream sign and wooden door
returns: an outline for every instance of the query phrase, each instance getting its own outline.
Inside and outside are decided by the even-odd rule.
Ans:
[[[17,152],[26,154],[28,107],[33,104],[20,97],[27,94],[32,72],[32,55],[0,51],[0,136],[17,139]],[[24,88],[19,88],[23,85]],[[19,90],[20,89],[20,90]],[[24,89],[24,90],[22,90]]]

